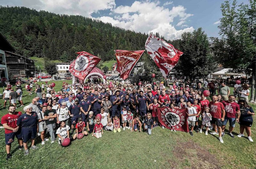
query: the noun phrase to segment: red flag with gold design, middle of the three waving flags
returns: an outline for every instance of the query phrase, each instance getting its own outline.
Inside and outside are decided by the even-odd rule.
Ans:
[[[141,55],[145,50],[129,51],[129,50],[115,50],[117,61],[117,71],[120,77],[126,79],[132,72]]]

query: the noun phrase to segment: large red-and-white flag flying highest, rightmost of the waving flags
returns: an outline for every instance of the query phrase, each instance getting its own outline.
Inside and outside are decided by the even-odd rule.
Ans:
[[[178,63],[180,56],[183,54],[183,52],[175,49],[171,44],[152,34],[149,35],[145,43],[145,49],[155,61],[164,77],[170,73],[172,68]]]

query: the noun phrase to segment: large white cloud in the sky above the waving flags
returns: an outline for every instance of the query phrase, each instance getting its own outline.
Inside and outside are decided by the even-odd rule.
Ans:
[[[131,6],[118,6],[112,13],[117,16],[99,17],[103,22],[111,23],[113,26],[122,27],[125,29],[134,30],[142,33],[158,32],[166,39],[178,39],[184,32],[192,32],[193,27],[185,25],[186,19],[193,14],[186,13],[186,8],[183,6],[173,6],[171,10],[163,6],[159,6],[160,2],[139,2],[135,1]],[[172,26],[174,18],[180,19],[177,26],[188,27],[181,30],[176,30]]]

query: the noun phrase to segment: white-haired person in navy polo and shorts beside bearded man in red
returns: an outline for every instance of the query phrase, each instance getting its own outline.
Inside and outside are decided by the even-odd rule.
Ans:
[[[34,99],[33,99],[34,100]],[[38,149],[37,146],[35,146],[35,138],[36,138],[36,128],[37,128],[37,113],[35,111],[32,111],[32,106],[29,104],[23,108],[23,111],[25,111],[24,114],[22,114],[18,120],[17,120],[17,126],[21,127],[21,134],[23,139],[23,146],[24,146],[24,155],[28,155],[28,140],[31,141],[31,147],[30,149]]]

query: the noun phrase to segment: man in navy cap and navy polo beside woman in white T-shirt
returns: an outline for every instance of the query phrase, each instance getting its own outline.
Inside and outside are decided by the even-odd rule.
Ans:
[[[68,114],[71,117],[71,129],[74,130],[74,125],[77,123],[77,119],[80,117],[80,105],[79,99],[75,98],[75,103],[68,107]]]

